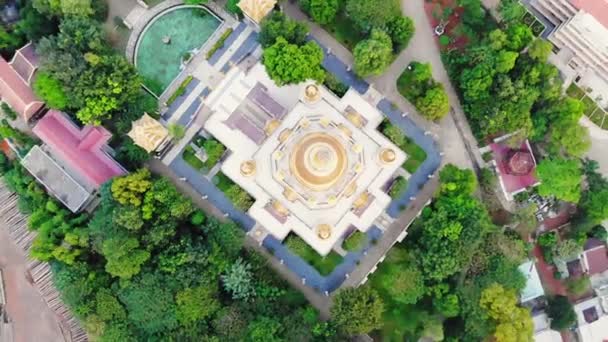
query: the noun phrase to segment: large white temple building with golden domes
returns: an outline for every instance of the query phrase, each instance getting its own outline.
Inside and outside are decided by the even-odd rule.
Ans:
[[[205,130],[231,152],[222,172],[255,198],[249,215],[277,239],[293,231],[327,255],[391,202],[386,188],[406,155],[356,91],[340,99],[311,82],[278,87],[258,63],[231,70],[206,103]]]

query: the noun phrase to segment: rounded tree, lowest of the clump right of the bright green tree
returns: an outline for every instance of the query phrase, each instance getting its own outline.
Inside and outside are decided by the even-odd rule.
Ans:
[[[393,59],[393,43],[386,32],[374,29],[368,39],[362,40],[353,51],[355,72],[365,77],[381,74]]]

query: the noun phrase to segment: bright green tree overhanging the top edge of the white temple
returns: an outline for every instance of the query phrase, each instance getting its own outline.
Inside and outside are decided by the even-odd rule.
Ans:
[[[290,44],[283,37],[264,50],[263,63],[270,78],[278,85],[297,84],[306,80],[323,82],[323,51],[315,42],[302,46]]]

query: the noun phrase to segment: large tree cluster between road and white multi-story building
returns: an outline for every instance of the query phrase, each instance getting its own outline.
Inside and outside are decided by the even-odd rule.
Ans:
[[[584,107],[562,95],[557,69],[547,63],[551,45],[517,22],[521,9],[503,1],[505,29],[480,27],[479,43],[449,52],[444,61],[479,139],[518,131],[545,141],[554,156],[580,157],[590,146],[587,129],[578,124]]]

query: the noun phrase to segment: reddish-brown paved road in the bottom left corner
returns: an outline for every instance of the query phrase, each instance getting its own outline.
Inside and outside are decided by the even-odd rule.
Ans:
[[[60,342],[63,334],[55,314],[26,277],[26,259],[4,227],[0,227],[0,268],[4,273],[7,311],[15,342]]]

